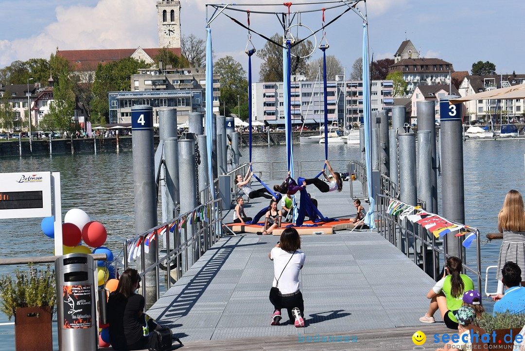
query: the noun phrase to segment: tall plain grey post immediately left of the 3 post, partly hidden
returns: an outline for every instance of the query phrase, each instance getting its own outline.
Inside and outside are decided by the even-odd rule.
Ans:
[[[427,210],[437,214],[437,158],[436,158],[436,113],[434,101],[417,101],[417,130],[430,131],[430,153],[432,163],[432,201]]]

